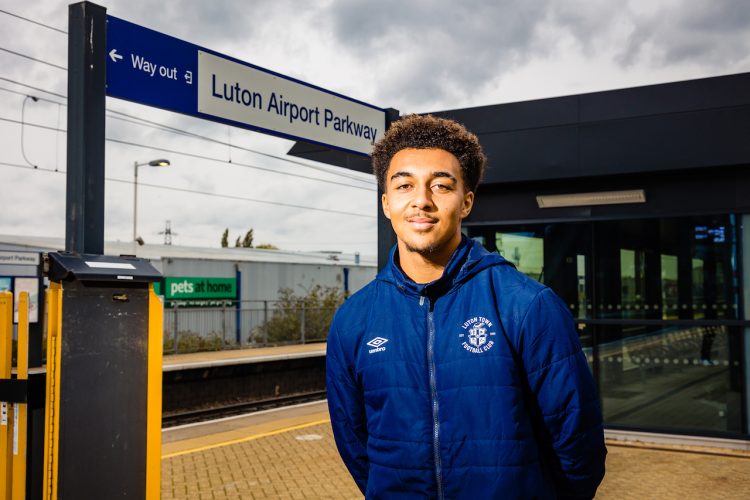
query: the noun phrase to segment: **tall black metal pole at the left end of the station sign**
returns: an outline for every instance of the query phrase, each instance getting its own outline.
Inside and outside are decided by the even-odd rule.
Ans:
[[[107,9],[68,7],[68,179],[65,250],[104,253]]]

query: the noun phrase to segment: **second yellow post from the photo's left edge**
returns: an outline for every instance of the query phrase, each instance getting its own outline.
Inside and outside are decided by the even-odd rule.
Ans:
[[[18,347],[16,379],[29,379],[29,294],[18,297]],[[26,403],[13,405],[13,500],[26,498]]]

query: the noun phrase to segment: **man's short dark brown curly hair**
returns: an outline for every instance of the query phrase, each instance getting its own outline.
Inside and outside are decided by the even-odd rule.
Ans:
[[[476,192],[482,180],[487,157],[477,136],[447,118],[432,115],[406,115],[393,122],[372,151],[372,170],[378,186],[385,191],[385,176],[391,159],[402,149],[442,149],[461,165],[467,191]]]

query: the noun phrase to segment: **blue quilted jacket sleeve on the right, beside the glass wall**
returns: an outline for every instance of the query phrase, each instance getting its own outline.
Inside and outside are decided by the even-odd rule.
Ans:
[[[565,304],[545,288],[522,322],[521,356],[559,498],[593,498],[607,449],[593,377]]]

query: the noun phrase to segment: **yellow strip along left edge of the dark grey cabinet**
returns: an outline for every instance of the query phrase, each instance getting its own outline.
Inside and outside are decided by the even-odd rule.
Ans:
[[[47,396],[44,423],[44,486],[42,498],[57,500],[57,446],[60,440],[60,322],[62,285],[51,282],[47,309]]]

